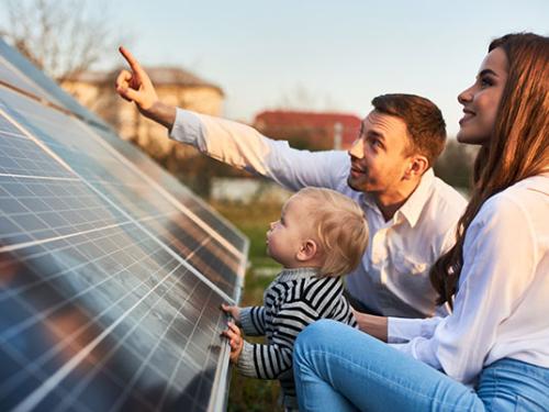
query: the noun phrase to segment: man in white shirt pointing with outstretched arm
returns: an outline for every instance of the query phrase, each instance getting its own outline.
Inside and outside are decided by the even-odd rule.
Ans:
[[[160,102],[137,60],[123,47],[120,51],[132,71],[120,73],[116,91],[165,125],[171,138],[288,189],[326,187],[359,203],[370,225],[370,243],[361,265],[347,277],[356,309],[382,316],[434,314],[429,268],[453,244],[467,203],[434,176],[432,166],[442,152],[446,130],[433,102],[411,94],[377,97],[348,154],[311,153],[247,125]]]

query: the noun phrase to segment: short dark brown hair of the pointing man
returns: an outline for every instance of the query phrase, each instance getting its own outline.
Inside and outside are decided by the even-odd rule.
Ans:
[[[446,123],[435,103],[415,94],[382,94],[372,100],[372,105],[380,113],[401,119],[412,143],[408,154],[421,154],[429,166],[434,165],[446,142]]]

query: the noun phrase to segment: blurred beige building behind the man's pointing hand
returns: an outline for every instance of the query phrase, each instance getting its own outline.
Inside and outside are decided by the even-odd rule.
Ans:
[[[166,103],[210,115],[222,114],[225,94],[221,87],[177,67],[145,67],[145,70]],[[141,115],[134,104],[116,94],[114,81],[119,71],[86,71],[66,79],[61,87],[110,123],[123,138],[135,142],[155,158],[165,159],[175,151],[182,157],[195,154],[183,145],[176,149],[175,143],[166,138],[164,126]]]

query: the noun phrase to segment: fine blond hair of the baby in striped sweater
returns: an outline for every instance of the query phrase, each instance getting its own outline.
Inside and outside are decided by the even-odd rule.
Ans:
[[[368,245],[368,223],[360,207],[330,189],[305,188],[294,194],[306,199],[313,233],[324,264],[321,276],[343,276],[355,269]]]

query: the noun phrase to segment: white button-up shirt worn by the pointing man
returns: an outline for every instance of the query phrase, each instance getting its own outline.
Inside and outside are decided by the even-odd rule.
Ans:
[[[247,125],[180,109],[170,137],[287,189],[324,187],[356,200],[368,220],[370,242],[359,267],[346,277],[349,293],[386,316],[435,313],[436,292],[428,271],[453,244],[467,202],[432,169],[385,222],[368,193],[348,187],[350,159],[346,152],[293,149],[288,142],[270,140]]]

